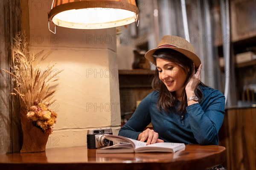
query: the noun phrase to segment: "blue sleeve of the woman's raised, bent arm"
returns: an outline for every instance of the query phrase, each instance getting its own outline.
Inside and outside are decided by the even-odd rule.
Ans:
[[[204,105],[204,109],[202,109]],[[186,108],[192,133],[198,144],[218,144],[218,131],[224,119],[225,96],[211,91],[201,104]]]

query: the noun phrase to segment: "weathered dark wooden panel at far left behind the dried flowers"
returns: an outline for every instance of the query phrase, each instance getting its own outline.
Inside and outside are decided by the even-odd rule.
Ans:
[[[10,70],[11,44],[20,31],[20,0],[0,2],[0,69]],[[20,150],[17,102],[11,102],[11,77],[0,70],[0,154]]]

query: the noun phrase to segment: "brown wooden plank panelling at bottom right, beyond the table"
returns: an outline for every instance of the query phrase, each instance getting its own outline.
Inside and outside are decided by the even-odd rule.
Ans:
[[[225,114],[226,120],[219,134],[222,136],[220,145],[227,147],[227,168],[255,170],[256,108],[228,109]],[[223,134],[227,139],[225,144]]]

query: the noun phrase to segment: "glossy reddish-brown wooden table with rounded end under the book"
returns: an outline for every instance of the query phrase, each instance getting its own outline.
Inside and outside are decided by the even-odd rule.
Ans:
[[[96,153],[87,147],[0,155],[1,170],[204,170],[225,160],[226,148],[187,144],[176,153]]]

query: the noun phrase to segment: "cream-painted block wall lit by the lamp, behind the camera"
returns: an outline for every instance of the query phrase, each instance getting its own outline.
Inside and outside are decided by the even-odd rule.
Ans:
[[[41,62],[57,63],[57,99],[52,109],[57,123],[49,136],[47,148],[86,145],[87,130],[120,127],[116,29],[79,30],[57,27],[48,30],[49,0],[29,1],[30,48],[44,50],[49,56]],[[53,26],[52,26],[53,28]]]

